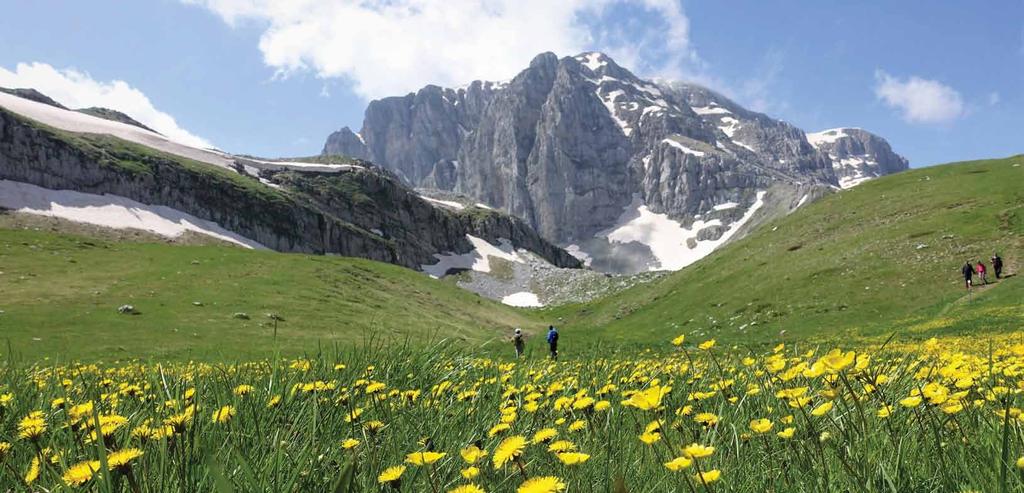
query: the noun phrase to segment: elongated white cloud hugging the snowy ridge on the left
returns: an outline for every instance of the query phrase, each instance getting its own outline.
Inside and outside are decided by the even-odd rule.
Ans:
[[[209,141],[181,128],[174,117],[157,110],[142,91],[125,81],[97,81],[73,69],[57,70],[46,64],[18,64],[13,72],[0,67],[0,87],[33,88],[57,102],[81,109],[102,107],[124,113],[171,140],[198,148]]]

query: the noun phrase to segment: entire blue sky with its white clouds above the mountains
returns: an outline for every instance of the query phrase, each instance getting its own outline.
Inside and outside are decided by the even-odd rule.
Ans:
[[[317,154],[369,98],[585,49],[808,131],[868,129],[913,166],[1024,152],[1022,1],[5,3],[0,85],[231,152]]]

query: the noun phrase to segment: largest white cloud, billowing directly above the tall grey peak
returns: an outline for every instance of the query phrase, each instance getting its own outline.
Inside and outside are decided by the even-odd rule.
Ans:
[[[699,61],[676,0],[182,1],[229,26],[261,26],[259,49],[279,74],[343,78],[366,98],[508,79],[544,51],[598,49],[644,75],[671,77]],[[639,31],[627,29],[638,18]]]

